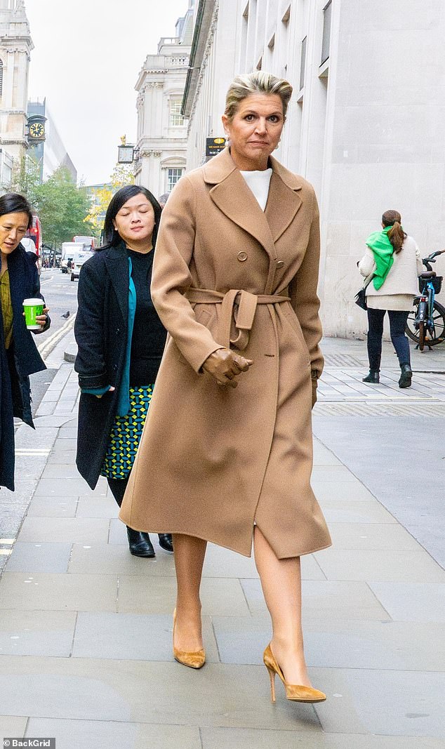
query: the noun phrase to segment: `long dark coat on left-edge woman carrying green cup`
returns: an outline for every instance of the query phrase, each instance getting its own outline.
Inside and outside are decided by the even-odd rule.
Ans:
[[[10,299],[13,308],[13,335],[8,353],[4,348],[3,320],[0,306],[0,486],[14,491],[14,425],[13,417],[34,428],[31,416],[29,375],[46,369],[23,317],[23,300],[40,297],[40,280],[35,255],[21,244],[8,256]],[[43,300],[44,302],[44,300]],[[43,330],[48,330],[50,320]],[[42,330],[42,332],[43,332]],[[37,331],[40,333],[40,331]]]

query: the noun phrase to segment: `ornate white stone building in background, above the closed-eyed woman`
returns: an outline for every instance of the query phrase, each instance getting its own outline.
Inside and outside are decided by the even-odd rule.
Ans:
[[[157,197],[171,192],[186,169],[187,124],[181,103],[193,30],[193,0],[178,19],[175,37],[163,37],[147,55],[136,82],[136,184]]]

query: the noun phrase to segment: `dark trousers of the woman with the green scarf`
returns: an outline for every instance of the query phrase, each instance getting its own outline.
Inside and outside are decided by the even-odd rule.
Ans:
[[[396,311],[392,309],[368,309],[368,358],[369,369],[374,372],[380,371],[381,363],[381,339],[383,336],[384,316],[388,313],[390,318],[391,341],[396,349],[399,364],[410,364],[410,345],[405,336],[405,325],[409,312]]]

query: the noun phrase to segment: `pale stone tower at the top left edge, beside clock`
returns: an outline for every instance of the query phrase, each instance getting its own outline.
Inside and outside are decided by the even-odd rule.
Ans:
[[[7,187],[13,162],[27,148],[28,70],[33,49],[22,0],[0,0],[0,172]]]

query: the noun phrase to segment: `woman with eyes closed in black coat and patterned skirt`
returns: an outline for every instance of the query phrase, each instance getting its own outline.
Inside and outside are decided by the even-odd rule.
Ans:
[[[151,301],[161,207],[145,187],[118,190],[106,211],[105,246],[83,266],[74,332],[81,389],[76,464],[94,489],[106,476],[121,506],[145,423],[166,330]],[[127,527],[130,552],[154,557],[148,533]],[[172,536],[160,533],[165,551]]]

